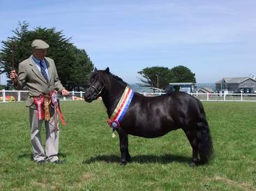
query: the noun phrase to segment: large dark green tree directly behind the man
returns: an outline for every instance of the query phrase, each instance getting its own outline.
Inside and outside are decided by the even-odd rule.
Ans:
[[[34,28],[29,31],[27,22],[19,22],[19,26],[13,31],[13,37],[2,41],[3,49],[0,50],[1,72],[6,72],[8,78],[11,70],[11,47],[14,47],[14,68],[18,69],[18,63],[29,58],[32,53],[31,42],[35,39],[44,40],[50,45],[47,56],[54,59],[61,83],[68,90],[80,90],[88,83],[89,73],[93,70],[93,63],[84,49],[77,49],[66,38],[62,31],[55,28]],[[10,80],[8,81],[10,86]]]

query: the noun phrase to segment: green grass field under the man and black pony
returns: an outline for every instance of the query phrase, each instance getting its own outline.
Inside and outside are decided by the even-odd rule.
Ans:
[[[132,162],[120,166],[103,103],[61,104],[64,165],[34,163],[25,103],[0,104],[0,190],[256,190],[256,103],[203,103],[215,154],[195,168],[181,130],[156,139],[130,135]]]

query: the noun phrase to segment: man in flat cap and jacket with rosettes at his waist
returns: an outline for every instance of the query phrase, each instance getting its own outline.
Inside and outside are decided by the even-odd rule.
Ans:
[[[59,81],[54,60],[45,57],[49,45],[43,40],[33,40],[31,47],[33,55],[19,64],[18,74],[15,70],[10,72],[10,79],[17,90],[22,90],[24,86],[27,86],[29,90],[27,107],[29,107],[33,159],[40,164],[44,164],[45,160],[61,164],[63,161],[59,160],[57,156],[59,123],[57,122],[57,113],[54,116],[54,106],[50,104],[50,100],[53,98],[52,92],[55,90],[63,96],[67,96],[69,93]],[[47,106],[48,103],[49,106]],[[47,117],[48,119],[46,119]],[[45,151],[40,137],[43,121],[45,121],[46,131]]]

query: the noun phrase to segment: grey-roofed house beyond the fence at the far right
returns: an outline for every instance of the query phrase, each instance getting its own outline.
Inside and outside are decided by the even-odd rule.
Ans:
[[[256,93],[256,80],[255,77],[222,78],[216,83],[216,91],[220,93]]]

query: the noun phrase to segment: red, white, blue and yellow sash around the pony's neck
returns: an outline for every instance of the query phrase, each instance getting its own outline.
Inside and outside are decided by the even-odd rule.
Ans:
[[[126,89],[123,91],[123,94],[119,99],[119,103],[117,103],[110,119],[107,119],[107,123],[112,128],[113,132],[116,130],[116,128],[120,127],[120,122],[123,119],[123,116],[126,114],[126,110],[128,110],[130,101],[133,99],[133,94],[133,90],[126,86]]]

